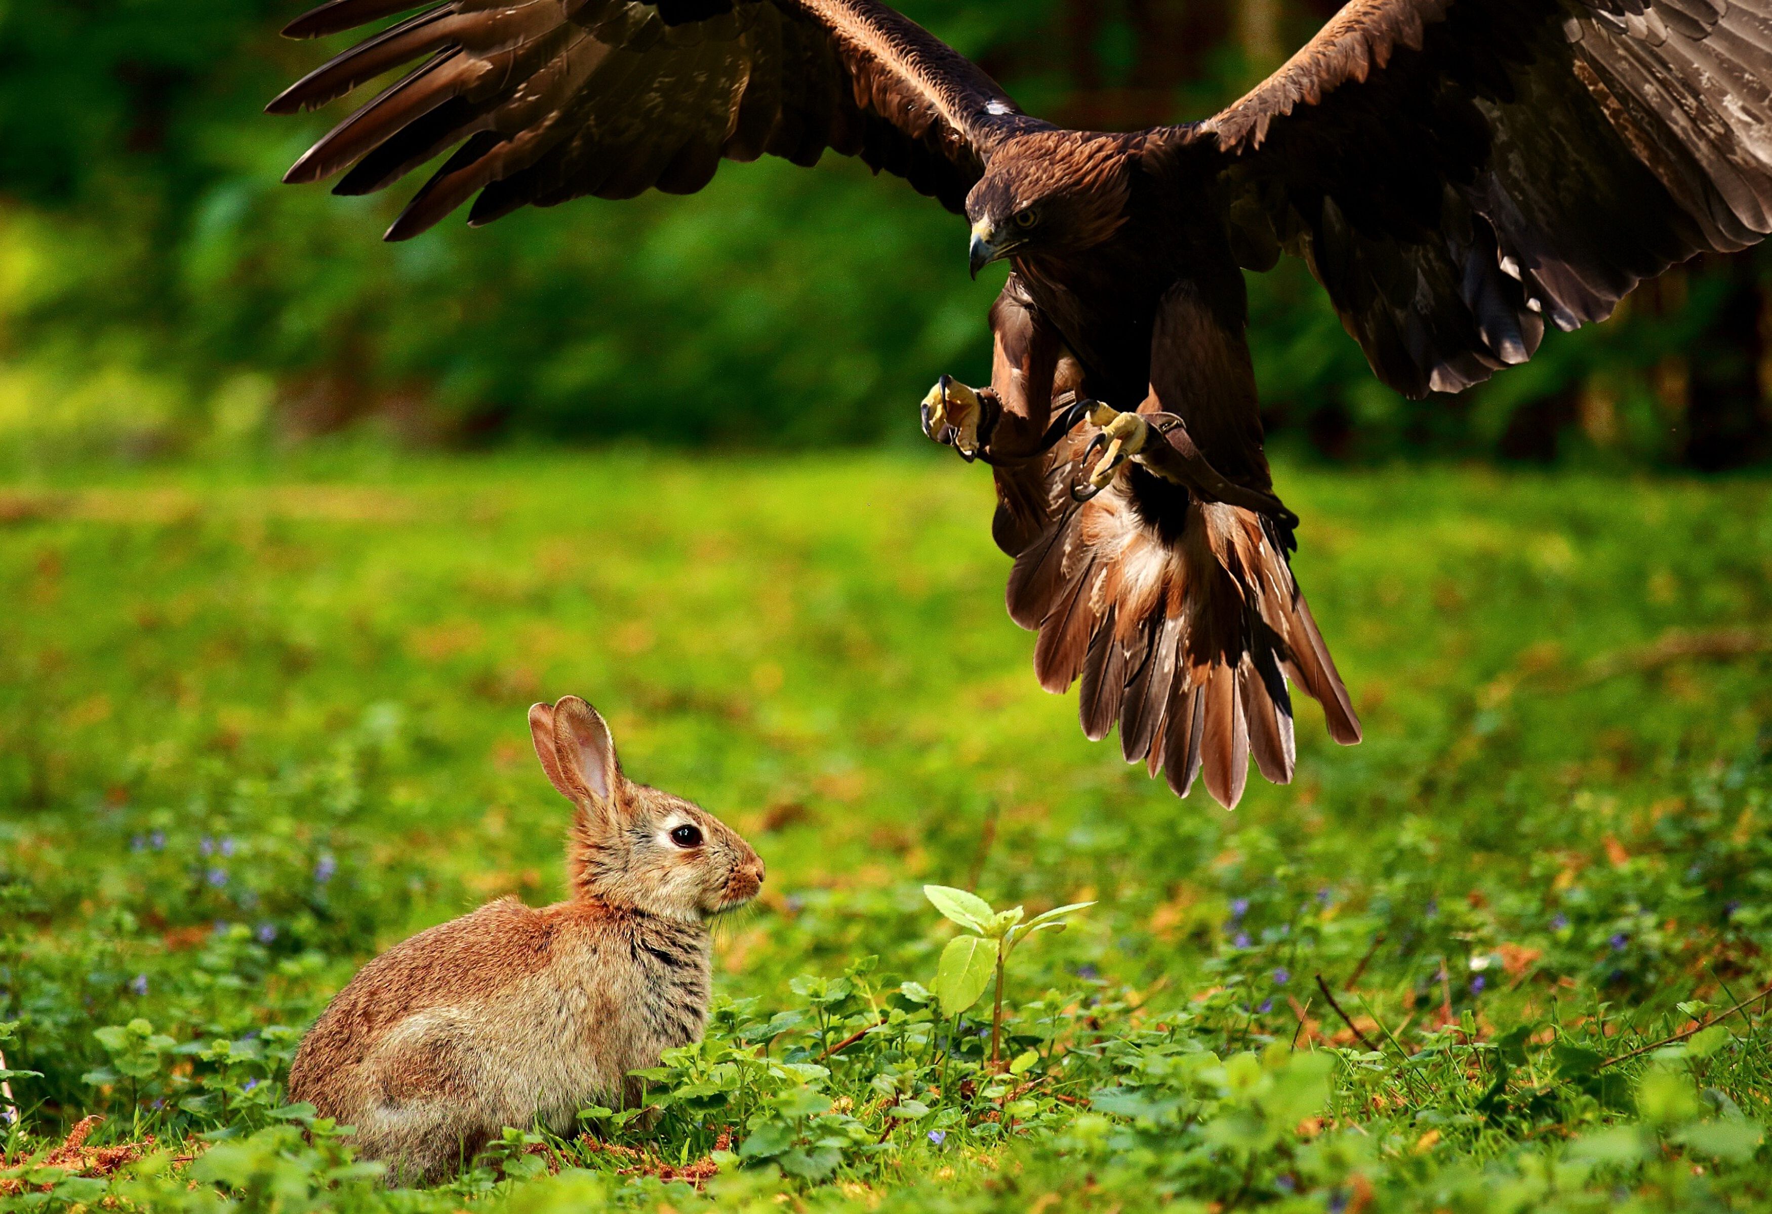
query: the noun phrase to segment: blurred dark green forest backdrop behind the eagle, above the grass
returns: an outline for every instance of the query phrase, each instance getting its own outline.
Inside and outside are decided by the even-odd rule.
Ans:
[[[936,374],[985,376],[964,227],[842,158],[727,167],[695,198],[581,200],[379,243],[404,191],[278,184],[344,106],[260,106],[328,50],[301,0],[0,5],[0,450],[14,464],[278,445],[369,422],[422,445],[641,436],[914,443]],[[1333,0],[907,0],[1026,108],[1203,117]],[[344,39],[340,39],[342,44]],[[422,179],[422,177],[420,177]],[[1302,266],[1255,276],[1274,445],[1726,468],[1772,450],[1756,253],[1455,399],[1384,390]]]

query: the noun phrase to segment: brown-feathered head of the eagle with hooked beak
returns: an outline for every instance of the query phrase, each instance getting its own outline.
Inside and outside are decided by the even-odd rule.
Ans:
[[[1125,223],[1132,154],[1125,135],[1031,131],[991,154],[966,195],[973,276],[1001,257],[1100,245]]]

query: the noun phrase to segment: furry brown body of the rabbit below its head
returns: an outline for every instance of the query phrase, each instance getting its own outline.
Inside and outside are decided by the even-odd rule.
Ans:
[[[707,936],[627,909],[503,899],[395,945],[314,1024],[289,1093],[370,1157],[473,1150],[500,1125],[571,1127],[627,1072],[700,1037]],[[425,1159],[422,1170],[447,1161]]]

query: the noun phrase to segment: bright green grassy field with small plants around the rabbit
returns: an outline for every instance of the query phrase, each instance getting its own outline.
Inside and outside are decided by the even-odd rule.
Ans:
[[[1772,1209],[1772,486],[1279,482],[1366,741],[1302,702],[1297,782],[1235,813],[1038,691],[983,470],[0,489],[0,1047],[39,1072],[0,1205]],[[560,895],[525,709],[565,693],[767,893],[650,1124],[388,1191],[282,1106],[287,1060],[376,950]],[[1010,1074],[989,1000],[929,1001],[925,883],[1097,902],[1015,952]]]

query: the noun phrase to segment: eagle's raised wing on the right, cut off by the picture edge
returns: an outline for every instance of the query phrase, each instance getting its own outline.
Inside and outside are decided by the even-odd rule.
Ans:
[[[1772,0],[1350,0],[1155,136],[1246,266],[1301,253],[1380,379],[1458,392],[1772,230]]]

